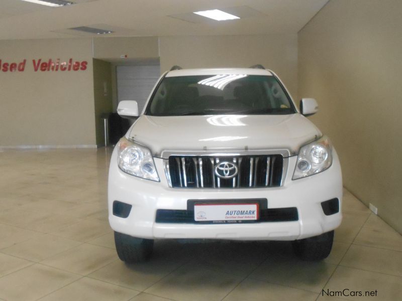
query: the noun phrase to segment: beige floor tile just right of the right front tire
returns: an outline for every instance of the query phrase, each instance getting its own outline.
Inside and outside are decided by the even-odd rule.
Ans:
[[[369,215],[365,212],[344,212],[341,225],[335,229],[334,240],[352,243]]]

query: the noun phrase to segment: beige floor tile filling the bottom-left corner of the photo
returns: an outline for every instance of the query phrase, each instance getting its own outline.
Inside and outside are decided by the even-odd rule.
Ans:
[[[79,277],[36,263],[0,278],[0,298],[8,301],[33,301]]]

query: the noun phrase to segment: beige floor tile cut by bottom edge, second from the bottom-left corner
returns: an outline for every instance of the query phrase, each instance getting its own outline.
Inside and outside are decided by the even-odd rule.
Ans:
[[[51,294],[40,301],[126,301],[139,291],[105,283],[102,281],[81,278]]]

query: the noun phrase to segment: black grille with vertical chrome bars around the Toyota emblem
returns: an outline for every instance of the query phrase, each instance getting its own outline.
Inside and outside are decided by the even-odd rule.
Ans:
[[[216,175],[219,163],[238,167],[236,176],[223,179]],[[169,156],[165,165],[170,186],[174,188],[258,188],[278,187],[283,172],[282,155],[253,156]]]

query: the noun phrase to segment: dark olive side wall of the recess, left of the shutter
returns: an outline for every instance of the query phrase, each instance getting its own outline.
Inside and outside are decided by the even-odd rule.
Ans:
[[[95,105],[96,144],[105,145],[105,124],[103,114],[113,111],[112,64],[93,59],[93,94]]]

